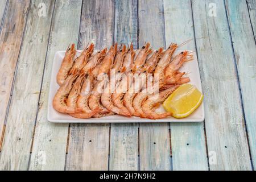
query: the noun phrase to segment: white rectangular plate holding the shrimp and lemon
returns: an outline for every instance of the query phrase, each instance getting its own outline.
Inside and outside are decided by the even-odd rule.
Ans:
[[[77,51],[77,56],[80,55],[81,51]],[[175,54],[180,53],[181,51],[176,51]],[[53,65],[52,65],[52,75],[51,75],[51,82],[49,86],[49,100],[48,100],[48,113],[47,118],[50,122],[56,122],[56,123],[134,123],[134,122],[202,122],[204,121],[204,103],[202,103],[191,115],[189,115],[187,118],[182,119],[176,119],[173,117],[168,117],[165,119],[158,119],[158,120],[152,120],[152,119],[144,119],[144,118],[138,118],[138,117],[123,117],[121,115],[109,115],[102,118],[89,118],[89,119],[78,119],[73,118],[68,114],[63,114],[57,112],[55,109],[53,109],[52,106],[52,100],[55,96],[55,93],[57,92],[57,89],[59,89],[59,85],[56,82],[56,75],[59,71],[61,62],[63,60],[63,57],[65,55],[65,51],[58,51],[55,53]],[[196,53],[193,52],[194,60],[189,61],[183,65],[183,67],[180,69],[181,72],[186,72],[187,76],[191,79],[190,84],[193,84],[202,92],[201,87],[201,80],[200,80],[200,72],[199,72],[199,66],[197,62],[197,56]],[[163,107],[160,108],[160,110],[164,110]]]

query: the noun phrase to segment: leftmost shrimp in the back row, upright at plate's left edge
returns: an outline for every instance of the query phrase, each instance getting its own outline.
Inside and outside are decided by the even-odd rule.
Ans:
[[[73,57],[76,55],[76,49],[75,44],[72,44],[72,46],[65,52],[64,59],[61,63],[59,72],[57,73],[57,84],[60,86],[64,83],[64,81],[67,79],[69,71],[72,68],[72,65],[74,63]]]

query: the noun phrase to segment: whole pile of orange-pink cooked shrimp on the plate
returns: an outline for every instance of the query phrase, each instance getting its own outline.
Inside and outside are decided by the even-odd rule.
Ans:
[[[180,46],[172,43],[166,50],[161,47],[154,51],[150,43],[137,50],[133,44],[126,47],[115,43],[96,52],[91,43],[77,57],[72,44],[57,73],[60,88],[53,98],[53,108],[83,119],[114,114],[170,117],[171,113],[159,113],[158,107],[190,81],[179,69],[193,55],[184,51],[174,56]]]

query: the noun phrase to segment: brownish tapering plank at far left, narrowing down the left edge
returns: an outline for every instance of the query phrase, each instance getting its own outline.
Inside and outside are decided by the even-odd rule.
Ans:
[[[0,34],[0,68],[2,69],[0,73],[0,136],[2,137],[29,4],[29,0],[9,2]],[[13,11],[14,9],[15,11]],[[0,149],[1,141],[0,139]]]

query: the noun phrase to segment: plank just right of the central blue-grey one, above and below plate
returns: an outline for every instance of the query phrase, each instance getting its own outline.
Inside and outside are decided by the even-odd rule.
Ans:
[[[139,47],[165,47],[163,1],[139,0]],[[141,170],[170,170],[170,124],[139,125],[139,165]]]

